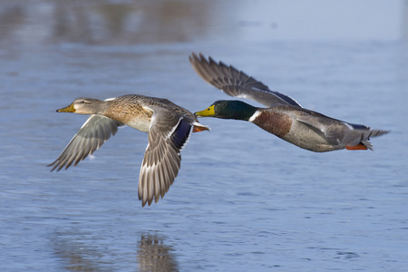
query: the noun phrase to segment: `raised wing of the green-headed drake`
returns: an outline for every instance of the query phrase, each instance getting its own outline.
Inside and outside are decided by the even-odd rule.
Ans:
[[[230,96],[247,98],[267,107],[277,104],[302,107],[289,96],[269,90],[264,83],[258,82],[231,65],[216,63],[211,57],[207,60],[202,53],[199,53],[199,56],[191,53],[189,62],[204,81]]]

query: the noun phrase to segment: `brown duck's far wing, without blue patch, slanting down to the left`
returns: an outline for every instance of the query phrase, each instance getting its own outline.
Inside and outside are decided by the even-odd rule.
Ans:
[[[122,125],[121,122],[103,115],[91,115],[83,123],[80,131],[73,136],[61,155],[48,166],[53,166],[52,171],[56,168],[59,171],[63,166],[68,169],[72,164],[77,165],[93,151],[98,150],[105,141],[111,138],[111,135],[115,135],[118,127]]]

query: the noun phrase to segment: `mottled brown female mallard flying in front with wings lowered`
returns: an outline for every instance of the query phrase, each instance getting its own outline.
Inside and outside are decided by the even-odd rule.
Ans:
[[[57,112],[91,114],[61,155],[49,166],[61,170],[76,165],[99,149],[118,127],[128,125],[149,133],[139,176],[141,205],[159,201],[169,190],[180,170],[180,151],[191,131],[208,131],[197,117],[166,99],[127,94],[100,101],[78,98]]]

